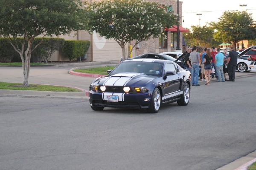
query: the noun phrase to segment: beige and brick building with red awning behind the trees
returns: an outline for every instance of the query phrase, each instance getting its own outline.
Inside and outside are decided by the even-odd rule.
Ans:
[[[155,0],[148,0],[156,2]],[[158,2],[168,6],[167,11],[173,11],[177,15],[177,0],[158,0]],[[188,32],[189,30],[184,29],[181,24],[182,16],[182,1],[179,1],[179,16],[180,16],[180,51],[182,51],[182,32]],[[84,61],[119,61],[122,56],[122,49],[116,43],[115,40],[107,40],[105,37],[100,37],[97,33],[90,35],[86,31],[73,32],[70,36],[58,36],[66,40],[89,40],[91,42],[90,48],[88,49],[86,59]],[[134,42],[131,42],[131,45]],[[174,52],[177,48],[177,26],[166,29],[166,32],[159,38],[152,38],[147,41],[140,42],[136,48],[132,51],[132,57],[141,55],[144,53],[160,53],[160,52]],[[126,46],[126,54],[128,54],[129,44]],[[64,58],[61,52],[55,52],[52,55],[52,61],[68,61]]]

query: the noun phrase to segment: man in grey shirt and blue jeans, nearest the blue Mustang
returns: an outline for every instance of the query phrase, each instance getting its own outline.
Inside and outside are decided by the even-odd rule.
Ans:
[[[198,52],[196,52],[197,47],[194,46],[192,48],[192,52],[189,55],[189,60],[191,61],[192,64],[192,86],[200,86],[198,84],[198,76],[199,76],[199,65],[202,66],[201,60],[200,60],[200,55]]]

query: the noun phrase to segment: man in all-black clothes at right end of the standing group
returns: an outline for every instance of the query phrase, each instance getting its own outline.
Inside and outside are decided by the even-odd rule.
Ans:
[[[235,81],[235,72],[236,72],[236,65],[237,65],[237,55],[238,53],[234,51],[234,47],[230,47],[230,52],[228,54],[227,59],[227,73],[229,80],[227,81]]]

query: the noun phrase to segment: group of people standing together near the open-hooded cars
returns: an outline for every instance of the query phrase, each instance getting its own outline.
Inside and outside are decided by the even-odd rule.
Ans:
[[[237,57],[238,53],[234,51],[233,46],[230,47],[229,54],[227,49],[224,49],[224,54],[221,53],[220,48],[215,51],[214,46],[211,49],[204,48],[200,54],[197,52],[197,46],[189,47],[185,64],[192,75],[192,86],[200,86],[198,84],[199,66],[201,66],[201,80],[206,81],[205,85],[209,85],[210,78],[214,79],[214,76],[218,82],[235,81]],[[229,80],[226,78],[226,73]]]

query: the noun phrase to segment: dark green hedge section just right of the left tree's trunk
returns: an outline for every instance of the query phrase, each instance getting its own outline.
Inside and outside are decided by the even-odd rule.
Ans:
[[[33,44],[39,44],[41,40],[41,38],[35,38]],[[49,61],[49,59],[51,58],[52,54],[56,50],[61,49],[61,47],[64,45],[64,42],[64,38],[44,38],[38,48],[36,48],[31,53],[32,62],[41,63],[41,61],[44,61],[44,63],[47,63],[47,61]]]

